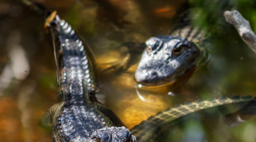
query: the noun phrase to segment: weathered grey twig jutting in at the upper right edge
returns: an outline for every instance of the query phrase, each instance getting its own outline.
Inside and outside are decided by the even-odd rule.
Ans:
[[[250,23],[236,10],[225,11],[226,21],[232,24],[244,42],[256,54],[256,35],[253,33]]]

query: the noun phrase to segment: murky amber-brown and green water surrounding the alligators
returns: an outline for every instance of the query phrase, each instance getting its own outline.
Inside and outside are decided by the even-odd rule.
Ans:
[[[173,17],[179,14],[184,1],[54,0],[42,3],[57,9],[86,40],[97,62],[97,97],[128,128],[158,111],[188,101],[256,96],[256,56],[228,23],[225,30],[216,29],[222,33],[220,36],[207,41],[207,48],[211,50],[209,61],[174,95],[163,95],[168,87],[136,90],[133,76],[136,64],[122,73],[103,71],[110,67],[106,63],[122,58],[121,43],[145,42],[152,36],[168,35],[175,23]],[[236,5],[253,29],[256,27],[255,6],[255,1],[241,0]],[[37,125],[39,117],[57,102],[53,49],[43,24],[43,17],[19,1],[0,1],[0,141],[52,141],[50,129]],[[221,119],[192,120],[173,131],[177,133],[176,141],[181,140],[178,137],[183,133],[182,141],[187,142],[254,142],[256,118],[232,129]]]

